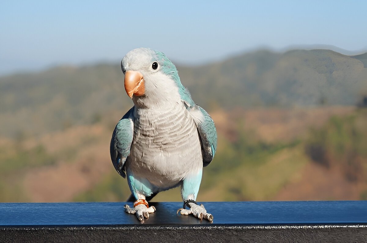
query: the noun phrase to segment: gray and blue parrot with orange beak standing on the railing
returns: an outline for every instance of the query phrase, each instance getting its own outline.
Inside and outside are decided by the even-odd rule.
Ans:
[[[174,64],[159,51],[137,48],[121,61],[126,93],[134,106],[117,123],[110,153],[117,172],[127,177],[140,221],[156,211],[148,200],[181,186],[182,215],[213,220],[195,202],[203,167],[217,149],[217,131],[208,113],[182,86]]]

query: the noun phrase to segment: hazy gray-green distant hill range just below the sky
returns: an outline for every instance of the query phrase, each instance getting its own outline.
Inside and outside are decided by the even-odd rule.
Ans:
[[[179,66],[197,104],[233,107],[355,105],[367,93],[366,54],[259,50],[203,66]],[[0,77],[0,134],[41,135],[93,124],[132,106],[118,64],[59,66]]]

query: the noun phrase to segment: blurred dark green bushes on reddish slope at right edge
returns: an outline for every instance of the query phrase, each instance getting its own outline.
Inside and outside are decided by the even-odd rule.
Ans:
[[[339,166],[350,181],[367,178],[367,109],[333,116],[320,129],[311,129],[306,154],[326,167]]]

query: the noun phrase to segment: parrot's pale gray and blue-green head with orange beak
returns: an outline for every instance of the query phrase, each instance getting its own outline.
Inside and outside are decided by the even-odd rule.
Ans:
[[[134,49],[122,59],[121,69],[126,93],[134,104],[172,102],[184,89],[175,65],[160,51]]]

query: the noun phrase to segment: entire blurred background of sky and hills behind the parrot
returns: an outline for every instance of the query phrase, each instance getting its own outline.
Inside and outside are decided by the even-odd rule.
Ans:
[[[218,131],[199,201],[367,199],[365,1],[7,1],[0,202],[124,201],[120,61],[164,52]],[[179,189],[155,201],[181,201]]]

